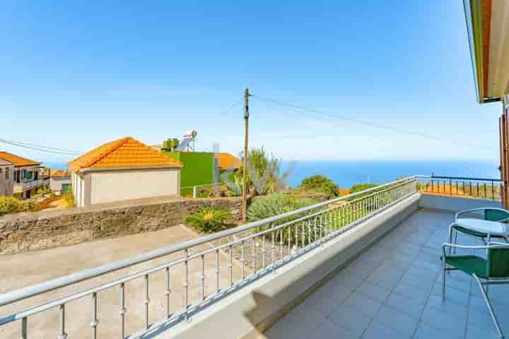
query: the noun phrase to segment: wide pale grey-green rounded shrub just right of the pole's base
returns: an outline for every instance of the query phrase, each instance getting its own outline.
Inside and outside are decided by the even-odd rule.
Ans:
[[[255,199],[247,209],[247,219],[250,221],[262,220],[314,203],[317,201],[310,198],[296,198],[288,194],[273,193]]]

